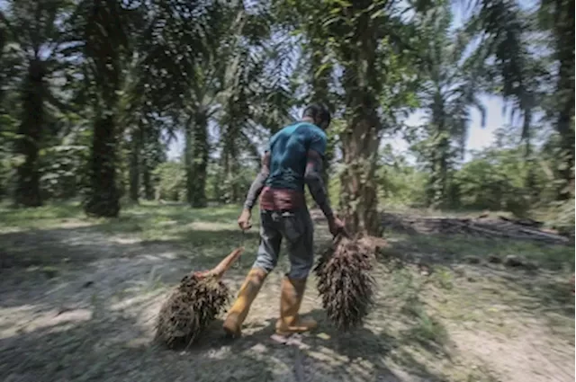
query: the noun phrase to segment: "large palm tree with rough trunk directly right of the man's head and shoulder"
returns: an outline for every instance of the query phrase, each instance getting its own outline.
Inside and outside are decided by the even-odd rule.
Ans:
[[[378,149],[383,131],[395,127],[398,113],[409,104],[409,65],[415,57],[406,41],[415,37],[415,25],[403,20],[398,5],[368,0],[332,4],[324,16],[329,49],[343,69],[347,128],[339,135],[345,164],[340,206],[347,225],[361,234],[382,232],[375,176]]]

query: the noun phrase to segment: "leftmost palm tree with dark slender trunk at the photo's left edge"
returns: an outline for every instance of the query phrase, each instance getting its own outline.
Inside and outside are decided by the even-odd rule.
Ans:
[[[50,91],[49,76],[62,62],[64,32],[59,22],[67,17],[72,2],[67,0],[10,0],[6,13],[0,11],[3,42],[11,41],[7,59],[15,64],[19,82],[21,121],[14,148],[24,161],[17,168],[16,204],[37,207],[40,195],[39,152],[46,129],[47,103],[59,106]],[[4,58],[3,58],[4,59]]]

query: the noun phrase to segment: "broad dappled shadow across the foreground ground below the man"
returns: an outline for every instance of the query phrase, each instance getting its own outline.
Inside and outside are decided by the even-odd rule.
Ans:
[[[101,301],[83,320],[65,314],[58,323],[0,339],[0,375],[6,382],[443,380],[398,351],[402,339],[365,328],[337,333],[323,312],[311,315],[321,332],[304,335],[297,346],[270,338],[272,319],[232,341],[222,337],[217,321],[193,348],[170,351],[153,342],[136,317]],[[399,366],[420,379],[405,379],[406,372],[394,370]]]

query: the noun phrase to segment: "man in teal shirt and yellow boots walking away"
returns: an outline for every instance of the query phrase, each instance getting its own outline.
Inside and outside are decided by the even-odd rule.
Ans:
[[[329,128],[329,124],[328,108],[312,104],[304,110],[302,120],[284,127],[270,138],[260,173],[250,186],[238,218],[240,229],[249,229],[251,210],[260,197],[257,259],[224,321],[224,331],[231,336],[240,335],[254,298],[278,262],[283,238],[288,244],[290,271],[282,280],[276,334],[288,336],[317,326],[313,319],[304,319],[298,314],[314,262],[314,227],[306,206],[304,185],[308,185],[312,197],[328,219],[330,233],[338,235],[344,224],[332,212],[321,176],[327,146],[324,130]]]

